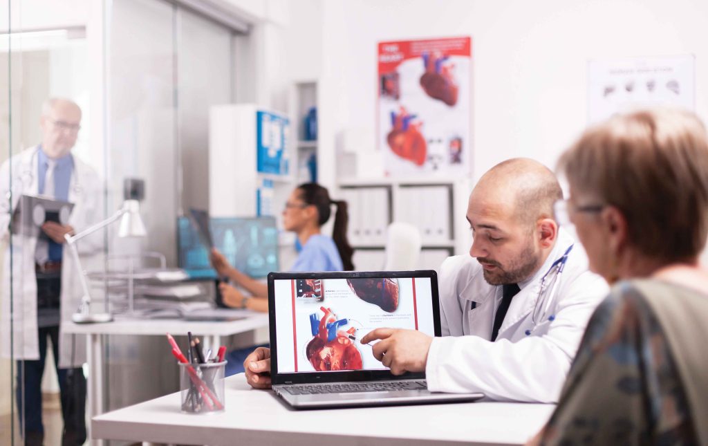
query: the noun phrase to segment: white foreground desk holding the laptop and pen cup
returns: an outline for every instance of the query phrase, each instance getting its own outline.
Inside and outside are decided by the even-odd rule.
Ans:
[[[552,404],[465,403],[294,411],[272,391],[226,381],[226,410],[180,412],[179,393],[96,416],[97,438],[181,445],[520,445]]]

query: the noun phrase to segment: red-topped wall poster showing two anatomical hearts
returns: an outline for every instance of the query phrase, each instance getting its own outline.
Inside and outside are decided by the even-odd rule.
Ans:
[[[387,176],[472,171],[472,38],[380,42],[377,144]]]

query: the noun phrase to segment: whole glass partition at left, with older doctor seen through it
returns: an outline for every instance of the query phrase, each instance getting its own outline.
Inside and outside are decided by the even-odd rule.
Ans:
[[[67,327],[86,295],[80,270],[92,311],[115,313],[127,289],[106,274],[113,258],[177,265],[177,217],[208,203],[209,108],[232,101],[234,79],[233,31],[175,2],[41,4],[0,0],[0,438],[12,445],[80,443],[86,404],[178,388],[163,339],[103,338],[94,359],[108,367],[93,379],[86,336]],[[144,181],[147,237],[109,225],[77,241],[77,263],[57,226],[71,236],[115,215],[125,178]],[[99,389],[104,400],[87,401]]]

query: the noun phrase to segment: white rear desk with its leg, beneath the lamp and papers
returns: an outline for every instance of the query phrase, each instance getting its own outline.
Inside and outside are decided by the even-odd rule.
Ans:
[[[103,413],[103,335],[144,335],[186,336],[191,331],[195,336],[203,336],[205,348],[212,348],[221,344],[222,336],[231,336],[245,333],[256,328],[268,326],[268,314],[248,311],[246,319],[238,321],[202,322],[185,321],[184,319],[118,319],[105,324],[62,324],[64,333],[86,334],[89,336],[88,361],[89,361],[89,413],[96,416]],[[169,345],[165,340],[165,348]],[[93,434],[91,437],[94,438]],[[91,440],[92,444],[96,444]]]

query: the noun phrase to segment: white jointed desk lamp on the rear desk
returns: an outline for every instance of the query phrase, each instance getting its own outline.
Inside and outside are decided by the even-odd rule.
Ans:
[[[86,276],[86,270],[81,266],[79,259],[79,249],[76,248],[76,242],[83,239],[89,234],[93,234],[103,227],[118,221],[119,237],[143,237],[146,235],[145,225],[140,218],[140,200],[144,198],[145,185],[144,181],[136,178],[125,178],[123,181],[123,205],[115,214],[111,215],[103,222],[96,223],[91,227],[84,229],[79,234],[70,236],[66,234],[64,238],[67,240],[67,246],[72,251],[72,256],[76,265],[79,266],[79,278],[81,279],[81,288],[84,291],[84,296],[81,297],[81,304],[76,313],[72,315],[72,321],[76,324],[93,324],[97,322],[110,322],[113,320],[113,315],[110,313],[91,313],[91,295],[89,295],[89,280]]]

